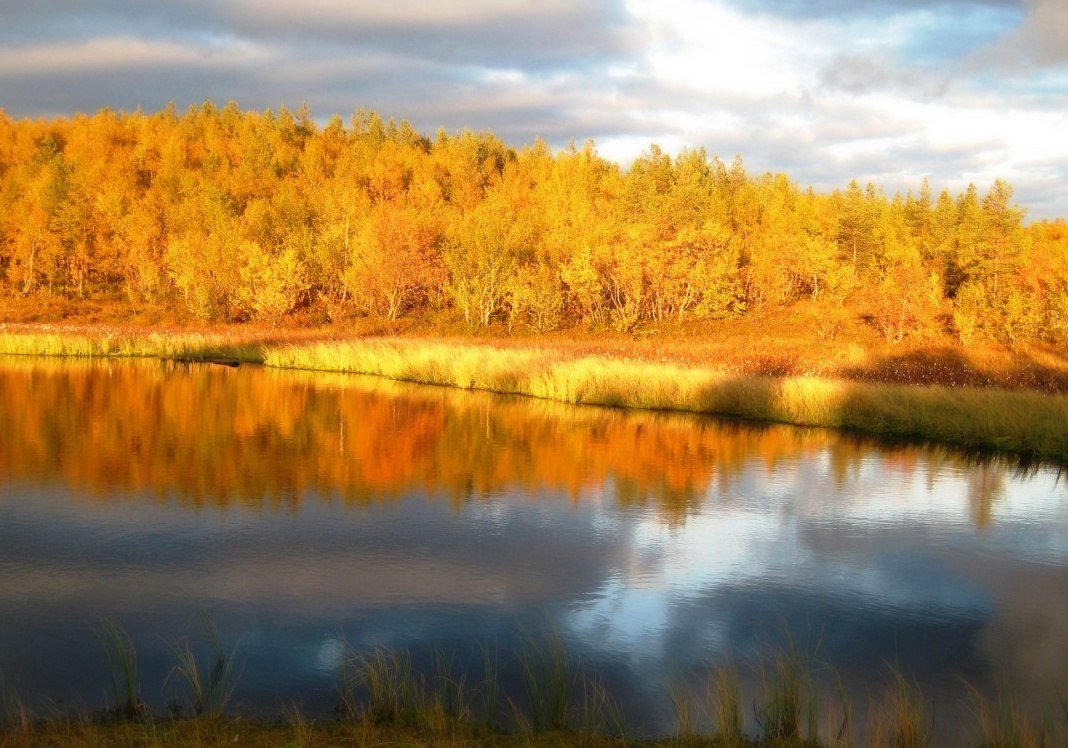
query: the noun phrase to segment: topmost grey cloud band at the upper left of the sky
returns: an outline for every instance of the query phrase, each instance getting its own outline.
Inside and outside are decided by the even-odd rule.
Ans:
[[[616,3],[598,0],[537,5],[520,0],[182,0],[163,6],[98,0],[68,5],[45,0],[19,9],[9,30],[0,30],[0,42],[22,46],[137,32],[146,38],[194,43],[206,38],[285,43],[295,53],[315,54],[319,46],[329,45],[410,54],[451,66],[556,69],[632,53],[640,35]]]

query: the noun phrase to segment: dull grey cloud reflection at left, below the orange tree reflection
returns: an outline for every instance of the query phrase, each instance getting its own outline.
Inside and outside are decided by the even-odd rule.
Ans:
[[[151,504],[142,511],[138,504],[112,526],[108,512],[79,524],[58,514],[65,502],[45,500],[54,512],[44,516],[33,503],[36,521],[0,527],[5,548],[0,571],[10,579],[5,590],[41,603],[69,596],[88,604],[100,594],[115,601],[269,599],[308,615],[331,617],[351,601],[363,606],[544,601],[595,587],[619,552],[617,534],[595,529],[598,512],[559,499],[490,502],[491,510],[474,502],[459,515],[450,504],[422,498],[399,510],[356,512],[309,503],[300,521],[242,516],[232,525],[220,523],[208,537],[198,536],[204,520],[198,513]],[[0,508],[0,517],[17,516],[14,509]],[[480,531],[487,515],[493,521],[489,533]],[[139,516],[166,532],[132,532]],[[76,552],[68,537],[77,539]],[[100,577],[109,580],[103,591],[92,583]]]

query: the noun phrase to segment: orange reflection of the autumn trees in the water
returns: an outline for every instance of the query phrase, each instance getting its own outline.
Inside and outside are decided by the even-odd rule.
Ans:
[[[743,470],[826,453],[845,484],[864,461],[905,474],[960,465],[945,450],[874,450],[823,430],[576,408],[346,375],[160,362],[6,361],[0,481],[62,481],[101,499],[154,492],[194,507],[372,503],[425,492],[466,501],[521,490],[616,501],[684,519]],[[970,478],[989,517],[1003,468]],[[985,508],[985,509],[983,509]]]

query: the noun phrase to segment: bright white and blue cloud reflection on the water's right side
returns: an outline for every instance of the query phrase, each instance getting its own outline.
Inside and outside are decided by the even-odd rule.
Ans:
[[[753,493],[709,497],[680,527],[643,517],[635,579],[607,580],[569,624],[635,669],[700,670],[789,637],[859,694],[878,692],[894,661],[936,699],[959,696],[959,677],[981,689],[1068,668],[1068,624],[1050,605],[1068,599],[1066,564],[1035,550],[1068,537],[1052,471],[985,466],[1001,498],[977,532],[974,471],[902,472],[877,456],[844,481],[826,468],[785,466],[764,493],[748,472],[736,483]],[[1042,703],[1049,691],[1030,688]]]

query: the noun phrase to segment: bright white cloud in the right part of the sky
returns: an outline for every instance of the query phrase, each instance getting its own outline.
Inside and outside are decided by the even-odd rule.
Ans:
[[[651,29],[634,79],[655,93],[621,112],[634,133],[599,141],[609,157],[629,160],[650,141],[669,151],[704,145],[820,189],[853,177],[888,192],[924,176],[951,189],[1002,177],[1037,205],[1033,215],[1068,215],[1068,198],[1048,189],[1054,175],[1068,177],[1066,110],[1050,107],[1047,92],[969,78],[962,66],[909,66],[910,45],[952,20],[930,9],[878,24],[694,0],[631,0],[628,9]],[[1030,80],[1056,91],[1059,79],[1045,75]]]

